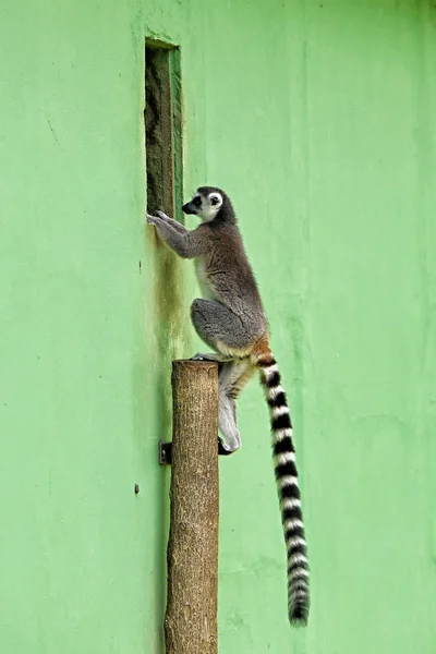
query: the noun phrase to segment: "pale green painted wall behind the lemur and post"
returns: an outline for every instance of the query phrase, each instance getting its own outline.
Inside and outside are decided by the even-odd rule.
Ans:
[[[424,0],[1,3],[0,651],[162,652],[161,379],[168,403],[168,362],[197,343],[180,316],[164,325],[177,337],[158,338],[146,36],[181,45],[185,195],[211,183],[233,197],[303,477],[313,609],[292,631],[252,384],[243,448],[220,463],[219,652],[433,654],[436,9]],[[191,265],[180,270],[187,316],[196,291]]]

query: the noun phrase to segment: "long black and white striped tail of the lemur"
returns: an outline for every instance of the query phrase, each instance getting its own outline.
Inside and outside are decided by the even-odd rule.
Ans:
[[[307,623],[310,607],[308,565],[291,416],[272,354],[263,354],[257,366],[271,419],[274,464],[288,552],[289,620],[302,626]]]

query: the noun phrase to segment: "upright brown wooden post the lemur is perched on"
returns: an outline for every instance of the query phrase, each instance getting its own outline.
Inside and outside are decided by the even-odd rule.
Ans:
[[[217,654],[218,365],[172,363],[167,654]]]

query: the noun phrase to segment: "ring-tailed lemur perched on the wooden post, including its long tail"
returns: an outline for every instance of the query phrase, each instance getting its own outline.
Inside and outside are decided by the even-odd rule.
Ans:
[[[310,593],[306,542],[292,443],[292,424],[280,374],[269,349],[267,319],[247,261],[229,197],[220,189],[199,187],[185,214],[203,222],[193,231],[166,214],[147,215],[164,241],[181,257],[194,258],[202,300],[194,300],[191,317],[213,354],[197,354],[219,363],[219,439],[221,453],[241,445],[235,399],[257,368],[269,405],[275,472],[288,550],[289,619],[307,622]]]

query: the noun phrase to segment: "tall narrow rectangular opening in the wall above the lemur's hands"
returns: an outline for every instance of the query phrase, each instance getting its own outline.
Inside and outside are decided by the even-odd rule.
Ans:
[[[147,210],[182,219],[180,51],[160,41],[145,46]]]

